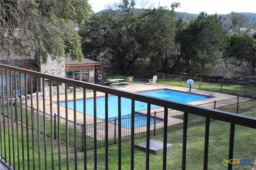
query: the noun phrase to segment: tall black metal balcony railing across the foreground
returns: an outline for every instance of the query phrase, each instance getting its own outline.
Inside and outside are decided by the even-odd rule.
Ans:
[[[163,152],[160,156],[161,159],[159,159],[160,166],[162,165],[161,169],[168,169],[166,167],[167,162],[172,159],[167,154],[167,144],[168,144],[168,128],[178,128],[180,127],[179,124],[182,124],[183,127],[183,135],[182,135],[182,159],[180,159],[180,164],[182,169],[186,169],[186,165],[188,165],[188,159],[186,159],[187,154],[187,137],[188,137],[188,125],[190,123],[200,123],[202,121],[206,121],[205,123],[205,131],[204,133],[204,155],[202,157],[204,158],[204,162],[199,163],[203,164],[204,169],[207,169],[208,167],[208,158],[212,158],[211,153],[208,152],[210,146],[214,145],[210,143],[210,120],[215,119],[218,121],[223,121],[230,125],[230,134],[223,137],[223,140],[229,140],[228,144],[228,151],[226,151],[225,154],[228,154],[228,160],[233,159],[233,153],[234,153],[234,145],[236,144],[236,140],[234,140],[234,131],[237,126],[239,125],[242,127],[250,127],[256,129],[256,118],[250,117],[246,115],[240,115],[236,113],[230,113],[226,111],[216,110],[216,109],[208,109],[206,107],[201,106],[194,106],[191,104],[186,103],[179,103],[164,99],[155,98],[152,96],[147,96],[144,94],[138,94],[135,92],[128,92],[125,90],[115,89],[107,86],[100,86],[97,84],[82,82],[78,80],[72,80],[68,78],[62,78],[58,76],[52,76],[50,74],[44,74],[36,71],[26,70],[22,68],[12,67],[12,66],[6,66],[3,64],[0,64],[1,67],[1,84],[0,84],[0,96],[4,96],[1,99],[0,102],[0,108],[4,108],[1,110],[2,115],[0,116],[0,162],[7,167],[8,169],[80,169],[84,168],[86,169],[88,166],[93,169],[99,169],[102,168],[102,165],[99,167],[99,163],[104,162],[105,168],[102,169],[109,169],[109,164],[111,164],[111,167],[114,167],[114,169],[121,169],[123,167],[123,164],[126,164],[126,166],[129,166],[130,169],[134,169],[135,159],[138,158],[138,155],[136,155],[136,150],[134,150],[134,139],[137,138],[139,135],[146,134],[146,144],[148,145],[146,147],[146,155],[143,157],[140,157],[142,159],[140,167],[142,169],[149,170],[150,169],[150,162],[153,163],[151,160],[154,161],[154,158],[150,155],[150,138],[152,138],[152,135],[160,131],[163,131],[161,137],[159,140],[163,142]],[[17,82],[17,79],[12,79],[12,74],[20,74],[24,75],[25,79],[24,81],[19,79]],[[14,76],[16,77],[16,76]],[[19,76],[21,78],[21,76]],[[26,77],[29,77],[26,79]],[[164,76],[163,76],[164,77]],[[160,76],[159,76],[160,78]],[[52,108],[52,105],[49,106],[49,112],[50,112],[50,118],[47,117],[45,114],[42,115],[42,121],[40,121],[40,116],[35,116],[35,114],[40,115],[39,110],[34,111],[28,109],[28,101],[25,101],[25,106],[21,105],[18,106],[18,99],[17,96],[14,98],[14,106],[11,106],[8,104],[8,101],[12,101],[12,95],[11,90],[12,89],[19,89],[18,87],[24,87],[24,94],[27,94],[28,88],[30,88],[30,91],[32,91],[33,88],[33,82],[36,81],[34,84],[36,84],[36,91],[38,92],[38,80],[42,80],[42,100],[40,100],[40,106],[43,107],[42,112],[46,113],[46,98],[45,98],[45,84],[44,81],[49,81],[48,90],[50,91],[50,94],[52,94],[53,90],[56,90],[56,98],[57,98],[57,105],[56,107]],[[158,79],[159,80],[159,79]],[[30,82],[31,86],[28,86],[28,82]],[[53,82],[56,82],[56,86],[53,86]],[[165,82],[165,80],[163,80]],[[13,85],[12,85],[13,84]],[[55,84],[55,83],[54,83]],[[60,103],[60,92],[63,92],[63,96],[65,97],[65,102],[68,101],[68,84],[74,86],[74,92],[72,99],[76,101],[76,87],[79,87],[83,90],[83,99],[86,102],[86,89],[90,89],[93,91],[93,99],[94,99],[94,108],[96,108],[96,97],[97,92],[102,92],[105,94],[105,96],[111,94],[118,96],[118,98],[128,98],[132,100],[132,106],[129,108],[131,109],[131,127],[126,128],[124,125],[122,125],[121,117],[120,117],[120,109],[121,109],[121,100],[118,100],[118,108],[115,109],[115,111],[118,112],[118,120],[121,122],[119,123],[116,121],[116,131],[112,131],[112,128],[115,128],[114,123],[104,123],[98,124],[96,121],[96,111],[93,117],[93,125],[90,126],[90,129],[87,129],[86,126],[82,126],[81,128],[84,128],[82,133],[82,138],[84,139],[84,147],[93,145],[94,150],[88,151],[92,152],[93,156],[87,157],[87,150],[84,149],[84,152],[82,152],[78,157],[78,143],[80,141],[78,140],[78,136],[80,131],[78,131],[79,128],[77,128],[76,123],[76,108],[74,108],[72,111],[68,112],[70,116],[74,116],[74,123],[72,125],[68,125],[68,121],[66,120],[64,125],[61,123],[60,117],[57,117],[57,123],[56,123],[56,130],[54,129],[54,118],[52,113],[56,112],[56,114],[61,114],[61,109],[59,108]],[[13,87],[12,87],[13,86]],[[6,93],[4,93],[6,92]],[[22,92],[20,92],[22,94]],[[6,96],[5,96],[6,94]],[[243,93],[245,94],[245,93]],[[252,94],[247,93],[246,94]],[[62,96],[62,97],[63,97]],[[252,95],[253,96],[253,95]],[[36,100],[38,101],[38,95]],[[239,97],[240,98],[240,97]],[[243,100],[247,101],[247,96],[242,97]],[[50,103],[52,103],[52,95],[49,96]],[[146,125],[145,126],[135,126],[135,101],[145,102],[147,104],[147,114],[146,114]],[[248,101],[250,101],[250,98],[248,98]],[[232,106],[236,103],[235,100],[230,103]],[[12,103],[12,102],[11,102]],[[105,106],[108,106],[109,102],[108,99],[105,98]],[[154,121],[150,123],[150,113],[151,105],[156,105],[164,108],[163,113],[156,113],[156,117],[159,119],[162,119],[163,122],[156,122]],[[254,102],[255,104],[255,102]],[[31,108],[33,108],[34,103],[33,99],[30,99]],[[37,102],[38,105],[38,102]],[[75,106],[75,104],[74,104]],[[209,104],[209,107],[222,107],[221,105],[215,104]],[[15,109],[14,109],[14,108]],[[48,106],[47,106],[48,107]],[[238,106],[242,108],[241,106]],[[37,107],[38,108],[38,107]],[[168,111],[168,108],[172,109],[171,111]],[[232,107],[233,108],[233,107]],[[237,107],[236,107],[237,108]],[[24,110],[25,109],[25,110]],[[86,111],[83,111],[83,122],[87,122],[87,116]],[[18,121],[12,121],[12,119],[18,118],[18,114],[20,114],[20,123]],[[28,115],[31,114],[31,127],[28,127]],[[66,114],[67,115],[67,114]],[[108,109],[105,111],[106,117],[108,117]],[[197,117],[197,116],[199,117]],[[68,115],[67,115],[68,116]],[[67,117],[66,116],[66,117]],[[163,117],[162,117],[163,116]],[[11,118],[8,118],[11,117]],[[24,119],[24,117],[27,117],[27,119]],[[152,115],[154,119],[154,115]],[[202,118],[202,119],[201,119]],[[50,135],[51,137],[47,137],[48,131],[48,119],[50,119]],[[142,119],[142,118],[141,118]],[[155,119],[154,119],[155,120]],[[171,120],[171,121],[170,121]],[[172,121],[173,120],[173,121]],[[169,124],[168,121],[174,122],[173,124]],[[24,125],[26,123],[26,126]],[[42,125],[41,125],[42,124]],[[74,125],[74,128],[72,127]],[[70,126],[70,127],[69,127]],[[38,131],[35,131],[34,128],[37,128]],[[73,129],[72,129],[73,128]],[[143,131],[143,134],[138,132],[137,129],[141,128],[141,131]],[[144,129],[143,129],[144,128]],[[61,131],[61,129],[65,129],[64,132]],[[74,134],[71,133],[70,135],[69,131],[72,129],[74,131]],[[92,131],[93,134],[89,134],[87,131]],[[125,129],[126,131],[122,131],[122,129]],[[144,131],[145,130],[145,131]],[[105,133],[103,134],[104,131]],[[37,132],[37,133],[36,133]],[[42,134],[40,133],[42,132]],[[70,147],[68,143],[62,143],[62,135],[66,132],[66,139],[67,140],[74,140],[74,147]],[[108,132],[112,132],[109,133]],[[54,134],[58,133],[58,139],[54,141]],[[128,134],[127,134],[128,133]],[[110,136],[110,134],[112,134]],[[130,135],[130,136],[129,136]],[[30,137],[32,136],[32,137]],[[117,161],[112,162],[109,160],[108,155],[109,149],[108,149],[108,141],[116,138],[116,143],[118,144],[113,154],[116,154],[116,157],[118,158]],[[73,139],[70,139],[73,138]],[[87,139],[94,139],[93,144],[87,141]],[[124,159],[123,155],[123,148],[121,147],[123,145],[122,139],[128,140],[130,139],[131,145],[125,148],[126,150],[130,150],[130,154],[127,155],[129,158],[129,162],[124,163],[122,159]],[[105,141],[105,150],[102,153],[99,153],[97,150],[98,145],[100,145],[101,141]],[[189,141],[188,141],[189,142]],[[246,141],[245,141],[246,142]],[[246,143],[242,143],[241,145],[245,145]],[[213,146],[214,147],[214,146]],[[200,148],[201,149],[201,148]],[[242,151],[240,151],[242,152]],[[104,155],[104,160],[102,158],[97,157],[97,155],[100,154],[101,156]],[[111,153],[112,154],[112,153]],[[238,151],[239,154],[239,151]],[[253,152],[250,152],[250,154],[253,154]],[[150,159],[151,158],[151,159]],[[189,162],[190,163],[190,162]],[[103,166],[104,166],[103,165]],[[93,167],[92,167],[93,166]],[[189,167],[189,165],[188,165]],[[160,167],[159,167],[160,168]],[[187,168],[188,169],[188,168]],[[232,163],[228,164],[228,169],[232,169]]]

